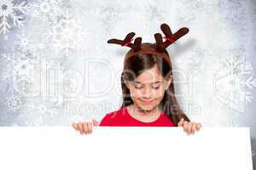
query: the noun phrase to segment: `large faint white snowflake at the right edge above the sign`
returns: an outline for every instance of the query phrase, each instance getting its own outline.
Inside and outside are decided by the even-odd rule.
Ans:
[[[230,109],[244,112],[253,96],[248,89],[256,88],[253,78],[253,66],[239,56],[232,56],[221,61],[215,70],[215,97],[230,107]]]

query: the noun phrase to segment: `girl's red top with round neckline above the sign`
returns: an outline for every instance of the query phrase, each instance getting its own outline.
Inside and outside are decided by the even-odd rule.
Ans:
[[[160,113],[160,116],[154,122],[141,122],[133,118],[128,112],[127,106],[108,113],[102,118],[99,126],[108,127],[175,127],[174,123],[164,114]]]

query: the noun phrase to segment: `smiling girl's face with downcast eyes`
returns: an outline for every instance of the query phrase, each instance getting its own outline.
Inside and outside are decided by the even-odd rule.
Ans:
[[[130,89],[134,105],[143,111],[152,111],[160,104],[171,82],[172,77],[165,79],[157,65],[154,65],[153,68],[143,71],[134,81],[125,81],[125,84]]]

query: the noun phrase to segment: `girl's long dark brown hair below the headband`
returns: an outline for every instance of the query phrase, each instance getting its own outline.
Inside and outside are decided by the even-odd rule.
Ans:
[[[154,65],[157,65],[162,77],[166,78],[172,75],[172,65],[168,65],[165,59],[154,54],[135,54],[127,60],[121,76],[123,93],[123,104],[121,105],[121,108],[133,104],[130,90],[125,85],[124,77],[128,81],[133,81],[143,71],[153,68]],[[172,120],[175,126],[177,126],[177,122],[179,122],[181,118],[184,118],[185,121],[190,122],[188,116],[183,113],[182,109],[177,103],[173,81],[171,82],[169,88],[165,91],[164,97],[160,102],[160,110],[164,111],[166,116]]]

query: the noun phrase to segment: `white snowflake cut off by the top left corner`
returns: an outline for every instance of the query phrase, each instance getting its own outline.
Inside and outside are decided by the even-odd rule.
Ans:
[[[8,33],[14,27],[20,28],[24,25],[24,16],[27,11],[26,2],[15,4],[10,0],[0,3],[0,34]]]

